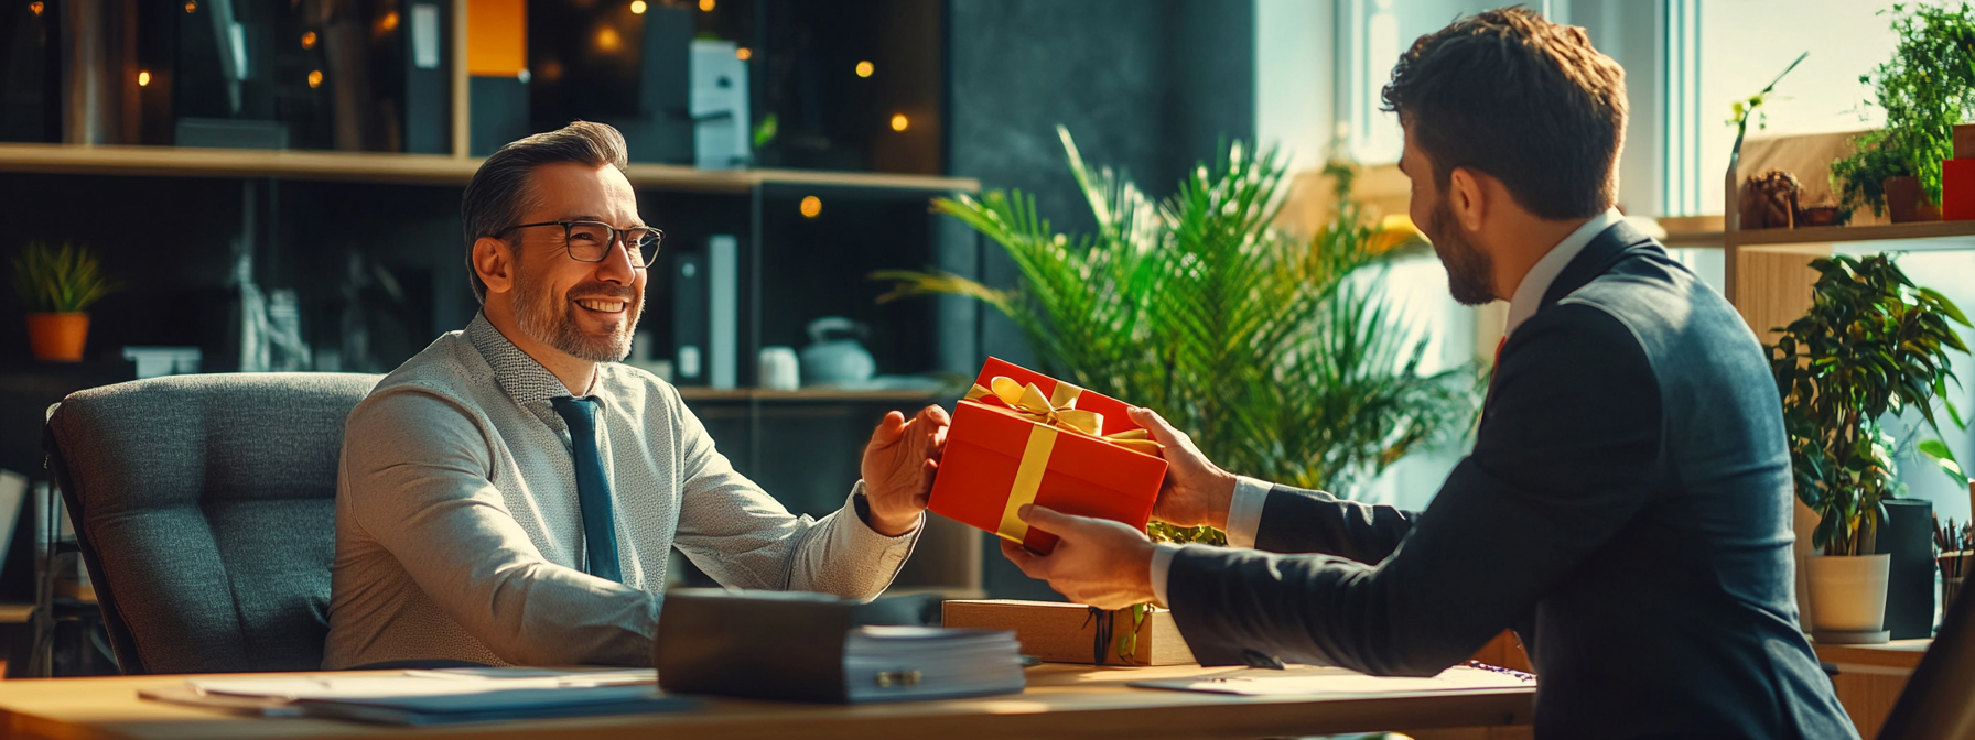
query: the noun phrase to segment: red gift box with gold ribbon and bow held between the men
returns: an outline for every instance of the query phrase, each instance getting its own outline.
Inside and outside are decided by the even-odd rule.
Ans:
[[[1118,399],[989,357],[954,408],[928,507],[948,519],[1049,553],[1057,537],[1029,529],[1023,503],[1146,529],[1165,460]],[[1114,436],[1106,440],[1106,436]]]

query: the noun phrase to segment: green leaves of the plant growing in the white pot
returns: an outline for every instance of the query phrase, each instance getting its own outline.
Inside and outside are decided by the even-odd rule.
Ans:
[[[1884,521],[1882,501],[1898,493],[1892,438],[1880,418],[1920,410],[1936,434],[1934,401],[1945,401],[1949,351],[1967,353],[1953,326],[1967,316],[1932,288],[1918,288],[1886,255],[1811,260],[1819,272],[1811,310],[1768,345],[1783,397],[1783,430],[1797,497],[1819,515],[1811,543],[1825,555],[1868,555]],[[1920,452],[1967,485],[1945,444]]]

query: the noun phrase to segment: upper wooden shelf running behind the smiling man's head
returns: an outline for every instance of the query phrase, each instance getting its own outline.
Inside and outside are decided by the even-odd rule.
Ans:
[[[69,146],[0,144],[0,172],[162,176],[162,178],[282,178],[421,185],[464,185],[484,158],[444,154],[225,150],[190,146]],[[885,187],[978,191],[974,178],[879,172],[695,170],[672,164],[632,164],[632,185],[687,191],[745,193],[754,185]]]

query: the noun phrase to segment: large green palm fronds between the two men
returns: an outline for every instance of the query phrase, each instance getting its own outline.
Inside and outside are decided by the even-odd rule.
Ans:
[[[938,199],[1007,251],[1021,286],[887,270],[873,278],[897,288],[881,300],[978,298],[1051,375],[1153,408],[1224,468],[1292,485],[1349,485],[1473,420],[1473,369],[1420,375],[1426,343],[1406,341],[1379,290],[1382,264],[1418,239],[1343,199],[1349,168],[1337,166],[1337,219],[1300,241],[1274,229],[1272,152],[1234,142],[1153,203],[1059,134],[1094,235],[1057,233],[1021,191]]]

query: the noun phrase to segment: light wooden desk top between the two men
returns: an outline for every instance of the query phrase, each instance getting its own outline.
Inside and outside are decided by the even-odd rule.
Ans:
[[[1043,665],[1023,695],[905,704],[711,701],[677,714],[531,720],[454,728],[381,728],[312,718],[247,718],[142,701],[142,687],[184,677],[0,681],[0,728],[30,738],[1130,738],[1307,736],[1529,724],[1535,689],[1382,697],[1223,697],[1130,689],[1126,681],[1223,673],[1187,667]]]

